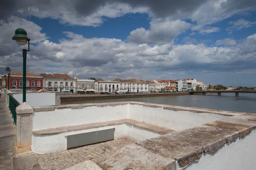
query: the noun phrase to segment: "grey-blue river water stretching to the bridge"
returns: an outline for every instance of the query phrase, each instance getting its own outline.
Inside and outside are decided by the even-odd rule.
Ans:
[[[223,111],[236,111],[256,113],[256,94],[239,93],[239,97],[235,97],[235,93],[217,93],[203,95],[181,95],[181,96],[159,96],[159,97],[138,97],[124,99],[102,99],[89,101],[74,101],[75,103],[101,103],[101,102],[122,102],[137,101],[148,102],[164,105],[177,105],[195,108],[208,108]]]

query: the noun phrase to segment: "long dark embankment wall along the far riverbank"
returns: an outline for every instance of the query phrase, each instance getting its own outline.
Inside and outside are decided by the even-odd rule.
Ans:
[[[133,97],[156,97],[156,96],[177,96],[189,95],[189,92],[171,93],[139,93],[139,94],[61,94],[61,103],[73,101],[101,100],[101,99],[121,99]]]

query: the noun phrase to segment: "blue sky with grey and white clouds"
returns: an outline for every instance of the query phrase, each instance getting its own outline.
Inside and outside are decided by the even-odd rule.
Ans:
[[[256,86],[256,0],[6,0],[0,69]],[[2,72],[1,71],[1,72]]]

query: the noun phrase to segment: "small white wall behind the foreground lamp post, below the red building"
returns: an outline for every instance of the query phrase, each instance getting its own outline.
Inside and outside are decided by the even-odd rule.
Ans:
[[[23,103],[23,94],[13,94],[13,97]],[[51,106],[55,105],[55,93],[26,93],[26,103],[30,106]]]

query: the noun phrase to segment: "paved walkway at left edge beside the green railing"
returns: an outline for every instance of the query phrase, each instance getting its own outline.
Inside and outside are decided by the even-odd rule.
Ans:
[[[0,97],[0,170],[12,170],[15,154],[16,126],[6,107],[5,96]]]

